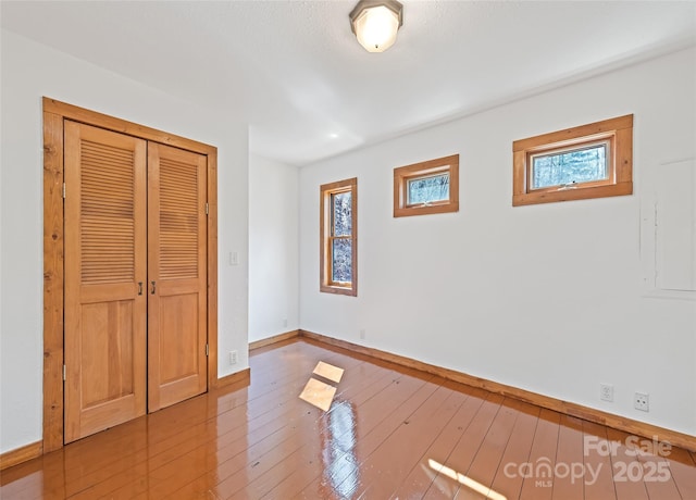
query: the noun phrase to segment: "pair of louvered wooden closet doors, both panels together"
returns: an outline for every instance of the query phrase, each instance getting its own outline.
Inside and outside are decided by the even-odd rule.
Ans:
[[[207,158],[64,126],[64,441],[204,392]]]

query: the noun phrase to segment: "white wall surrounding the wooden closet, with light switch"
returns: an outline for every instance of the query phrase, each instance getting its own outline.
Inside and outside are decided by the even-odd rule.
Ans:
[[[248,366],[248,133],[235,110],[201,109],[2,30],[0,452],[41,439],[41,96],[211,143],[219,151],[220,375]],[[223,363],[236,349],[239,363]]]

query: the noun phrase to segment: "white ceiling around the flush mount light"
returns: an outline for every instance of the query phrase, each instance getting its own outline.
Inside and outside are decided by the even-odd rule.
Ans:
[[[356,1],[2,1],[2,27],[206,107],[304,165],[696,43],[696,2],[410,1],[368,53]]]

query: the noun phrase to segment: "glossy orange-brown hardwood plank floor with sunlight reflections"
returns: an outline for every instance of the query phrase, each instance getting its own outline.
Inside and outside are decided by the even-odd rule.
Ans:
[[[306,339],[250,364],[249,386],[3,471],[0,498],[696,499],[683,449]],[[327,412],[298,397],[312,377]]]

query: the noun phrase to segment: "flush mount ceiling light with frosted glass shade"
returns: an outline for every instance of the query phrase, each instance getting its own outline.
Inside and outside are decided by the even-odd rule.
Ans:
[[[350,12],[350,29],[368,52],[384,52],[403,24],[403,5],[396,0],[360,0]]]

